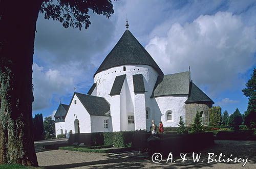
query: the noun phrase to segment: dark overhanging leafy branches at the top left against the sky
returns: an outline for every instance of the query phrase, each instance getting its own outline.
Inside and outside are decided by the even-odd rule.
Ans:
[[[84,24],[85,29],[88,29],[91,24],[88,15],[89,9],[93,13],[105,15],[107,18],[114,13],[111,1],[102,0],[48,0],[42,2],[40,12],[45,14],[45,19],[57,20],[65,28],[71,26],[81,30],[82,24]]]

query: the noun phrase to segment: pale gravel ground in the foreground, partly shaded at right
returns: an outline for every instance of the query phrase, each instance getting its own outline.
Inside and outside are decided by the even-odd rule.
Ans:
[[[85,153],[67,150],[52,150],[38,152],[37,159],[40,166],[46,168],[256,168],[256,141],[215,140],[215,145],[204,149],[199,162],[193,162],[192,154],[187,154],[188,160],[182,162],[180,156],[174,157],[175,163],[163,159],[159,163],[153,163],[151,159],[135,159],[123,154]],[[248,162],[242,167],[241,163],[207,163],[207,153],[220,153],[229,157],[248,158]],[[185,153],[185,152],[184,152]],[[212,157],[213,158],[213,157]],[[218,158],[218,157],[217,157]],[[222,158],[223,159],[223,158]],[[201,162],[203,161],[203,162]]]

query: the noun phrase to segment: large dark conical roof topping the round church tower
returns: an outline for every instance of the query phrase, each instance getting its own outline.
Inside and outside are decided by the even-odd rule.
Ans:
[[[148,65],[152,66],[159,75],[163,75],[162,70],[151,55],[129,30],[123,33],[115,47],[99,66],[94,76],[103,70],[121,65]]]

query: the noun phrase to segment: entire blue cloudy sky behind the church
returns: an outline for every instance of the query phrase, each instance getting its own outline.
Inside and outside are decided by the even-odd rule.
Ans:
[[[256,65],[256,1],[115,1],[110,19],[91,13],[88,30],[37,20],[33,115],[52,116],[59,99],[87,93],[93,74],[125,31],[152,55],[164,74],[188,70],[215,106],[243,113],[246,81]],[[223,112],[222,111],[222,112]]]

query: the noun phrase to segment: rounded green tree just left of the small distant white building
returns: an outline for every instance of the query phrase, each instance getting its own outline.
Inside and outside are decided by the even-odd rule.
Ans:
[[[55,135],[55,121],[52,120],[52,117],[46,117],[44,120],[44,133],[45,137],[51,138]]]

